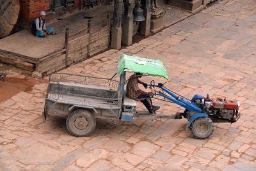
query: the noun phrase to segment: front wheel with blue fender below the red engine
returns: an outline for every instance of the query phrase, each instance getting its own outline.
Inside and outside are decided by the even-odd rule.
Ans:
[[[209,117],[199,117],[191,123],[189,128],[195,138],[205,139],[212,135],[214,124]]]

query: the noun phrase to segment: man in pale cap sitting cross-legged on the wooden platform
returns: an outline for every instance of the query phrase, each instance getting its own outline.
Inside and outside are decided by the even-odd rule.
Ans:
[[[40,17],[36,18],[33,21],[31,31],[34,36],[45,38],[47,34],[55,34],[53,27],[45,28],[45,18],[46,13],[45,11],[40,12]]]

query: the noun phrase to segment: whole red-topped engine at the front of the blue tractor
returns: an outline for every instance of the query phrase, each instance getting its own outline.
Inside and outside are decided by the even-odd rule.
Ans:
[[[239,101],[227,100],[223,98],[208,97],[204,100],[204,108],[207,114],[214,115],[218,119],[232,119],[234,115],[237,116],[239,109]]]

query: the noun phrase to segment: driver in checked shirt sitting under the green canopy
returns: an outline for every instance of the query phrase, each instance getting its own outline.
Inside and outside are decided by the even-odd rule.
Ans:
[[[148,112],[152,114],[153,112],[158,110],[160,107],[152,105],[152,100],[151,100],[151,97],[153,95],[152,93],[147,93],[145,91],[142,91],[139,88],[138,83],[142,84],[145,88],[147,88],[147,83],[139,80],[139,78],[141,77],[142,77],[142,73],[134,73],[134,75],[132,75],[129,78],[129,81],[126,87],[126,91],[127,91],[126,96],[127,98],[131,98],[136,101],[141,101],[143,105],[145,105],[145,107],[147,108]]]

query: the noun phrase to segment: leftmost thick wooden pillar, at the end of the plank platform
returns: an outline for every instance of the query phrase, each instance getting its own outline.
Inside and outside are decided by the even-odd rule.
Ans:
[[[122,39],[122,0],[115,0],[113,27],[111,29],[111,48],[120,49]]]

